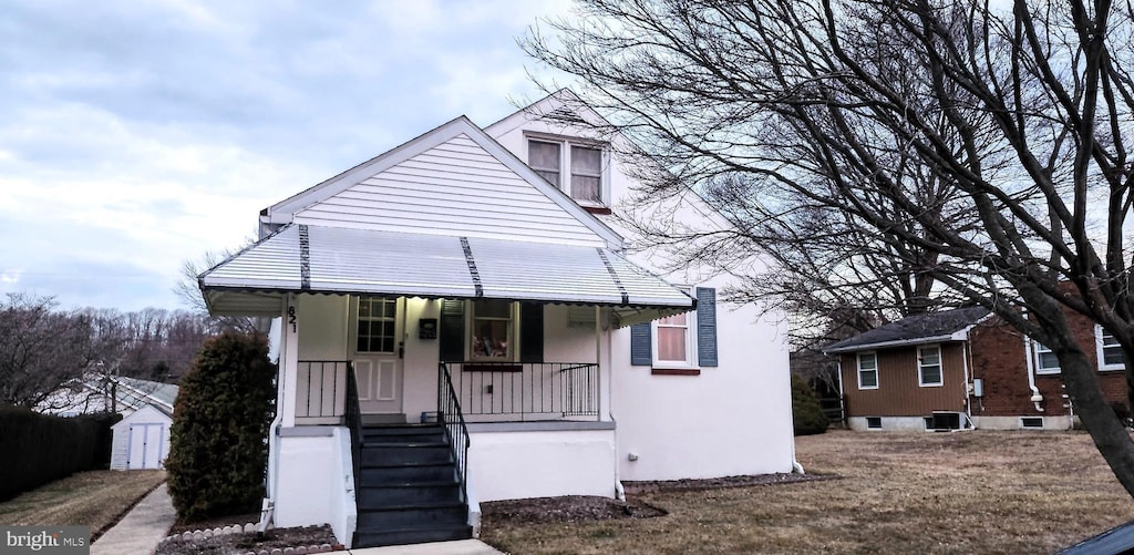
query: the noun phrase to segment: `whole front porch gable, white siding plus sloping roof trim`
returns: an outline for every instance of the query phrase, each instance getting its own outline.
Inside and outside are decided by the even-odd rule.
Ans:
[[[273,204],[261,220],[623,246],[464,116]]]

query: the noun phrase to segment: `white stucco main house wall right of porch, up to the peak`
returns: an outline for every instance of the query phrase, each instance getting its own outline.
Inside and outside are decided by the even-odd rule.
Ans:
[[[549,108],[535,110],[536,113]],[[525,133],[590,137],[593,132],[562,121],[525,120],[513,116],[490,127],[505,148],[527,159]],[[616,141],[618,141],[616,138]],[[616,144],[618,149],[626,144]],[[604,177],[615,210],[635,186],[617,155]],[[642,216],[641,207],[635,213]],[[655,218],[654,218],[655,216]],[[654,224],[670,228],[705,229],[726,222],[695,195],[669,200],[650,215]],[[612,217],[603,221],[627,238],[631,246],[643,242],[620,228]],[[628,258],[672,284],[718,289],[718,367],[701,368],[700,376],[657,376],[650,367],[629,363],[629,331],[615,331],[610,352],[612,376],[608,379],[611,415],[618,421],[618,464],[623,480],[710,478],[729,474],[789,472],[795,456],[792,428],[792,389],[786,328],[779,312],[762,316],[754,306],[728,306],[719,293],[729,278],[708,266],[683,264],[666,271],[663,250],[631,252]],[[759,260],[750,260],[752,269]],[[606,354],[603,355],[606,358]],[[607,362],[606,360],[603,362]],[[637,461],[629,461],[631,453]]]

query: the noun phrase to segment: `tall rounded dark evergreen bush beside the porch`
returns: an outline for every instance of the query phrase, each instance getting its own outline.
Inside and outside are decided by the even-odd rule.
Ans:
[[[263,336],[226,333],[181,378],[166,470],[183,522],[260,510],[274,377]]]

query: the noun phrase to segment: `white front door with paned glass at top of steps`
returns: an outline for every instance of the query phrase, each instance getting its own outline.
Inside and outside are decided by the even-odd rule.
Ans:
[[[363,414],[399,414],[405,300],[361,297],[354,309],[358,406]]]

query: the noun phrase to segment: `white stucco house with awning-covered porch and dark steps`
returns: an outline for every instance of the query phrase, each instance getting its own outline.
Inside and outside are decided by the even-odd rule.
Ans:
[[[481,502],[793,470],[782,319],[629,249],[625,140],[599,123],[569,91],[454,119],[264,209],[200,277],[213,313],[276,319],[277,525],[462,538]]]

